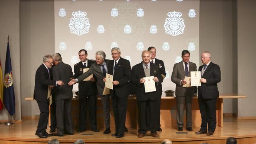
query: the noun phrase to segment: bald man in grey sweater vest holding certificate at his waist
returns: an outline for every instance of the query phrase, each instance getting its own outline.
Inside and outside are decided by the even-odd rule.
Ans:
[[[133,66],[132,70],[132,83],[136,85],[136,97],[139,111],[139,135],[138,137],[144,137],[147,130],[151,131],[152,137],[159,137],[156,132],[156,102],[159,99],[159,84],[163,82],[160,69],[157,65],[150,63],[150,52],[145,50],[142,52],[142,62]],[[153,80],[156,85],[156,91],[145,92],[145,79],[144,77],[154,76]],[[149,108],[149,125],[147,122],[147,107]]]

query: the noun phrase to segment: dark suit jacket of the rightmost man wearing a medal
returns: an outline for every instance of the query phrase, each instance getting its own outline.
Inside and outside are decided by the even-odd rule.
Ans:
[[[199,66],[199,71],[202,71],[204,65]],[[201,83],[201,86],[198,86],[198,98],[203,99],[216,99],[219,97],[219,91],[217,83],[220,82],[220,67],[217,64],[210,64],[207,66],[204,74],[201,78],[206,79],[206,83]]]

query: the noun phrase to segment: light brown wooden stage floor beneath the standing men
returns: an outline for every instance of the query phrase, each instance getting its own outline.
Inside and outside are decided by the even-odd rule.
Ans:
[[[208,142],[209,144],[225,144],[225,139],[235,137],[238,144],[254,144],[256,142],[256,120],[236,120],[229,117],[224,118],[224,127],[216,127],[216,131],[212,136],[196,135],[200,127],[192,127],[193,131],[183,130],[187,134],[176,134],[176,127],[162,127],[163,131],[158,132],[159,138],[149,136],[149,132],[143,138],[137,137],[137,130],[128,128],[123,138],[111,137],[110,134],[103,135],[103,130],[100,132],[92,132],[90,130],[78,133],[74,131],[74,135],[64,135],[64,137],[48,137],[47,139],[39,138],[35,135],[38,119],[24,119],[22,123],[14,125],[0,124],[0,144],[47,144],[50,139],[59,139],[61,144],[73,144],[76,139],[83,139],[86,144],[97,143],[150,143],[160,144],[163,139],[171,139],[173,144],[201,144]],[[47,130],[49,132],[49,130]],[[111,133],[114,133],[114,128],[111,128]],[[92,135],[82,135],[92,134]]]

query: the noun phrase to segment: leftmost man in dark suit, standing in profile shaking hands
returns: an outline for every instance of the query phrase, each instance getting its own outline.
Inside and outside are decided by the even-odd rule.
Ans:
[[[47,129],[47,123],[49,118],[49,100],[47,99],[47,96],[48,91],[50,93],[50,89],[48,89],[48,86],[64,85],[61,80],[56,81],[50,79],[49,68],[51,68],[52,65],[52,56],[45,55],[43,57],[43,64],[41,64],[36,70],[34,99],[36,99],[40,110],[36,135],[41,138],[47,138],[52,136],[45,131]]]

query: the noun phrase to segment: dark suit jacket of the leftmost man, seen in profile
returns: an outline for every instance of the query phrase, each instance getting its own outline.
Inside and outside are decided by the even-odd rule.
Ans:
[[[38,102],[47,102],[48,85],[56,85],[55,80],[49,79],[49,73],[44,64],[36,70],[35,89],[33,98]]]

